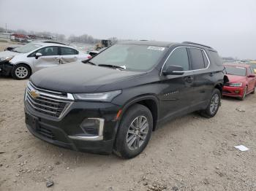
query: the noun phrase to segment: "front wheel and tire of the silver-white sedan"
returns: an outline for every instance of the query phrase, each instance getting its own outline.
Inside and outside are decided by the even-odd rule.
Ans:
[[[20,63],[12,69],[12,78],[27,79],[31,76],[31,69],[26,64]]]

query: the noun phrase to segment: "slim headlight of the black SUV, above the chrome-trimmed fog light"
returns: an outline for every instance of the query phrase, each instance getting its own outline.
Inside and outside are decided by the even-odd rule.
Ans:
[[[113,98],[115,98],[120,93],[121,93],[121,90],[115,90],[111,92],[102,92],[102,93],[75,93],[74,97],[77,100],[110,102],[113,100]]]

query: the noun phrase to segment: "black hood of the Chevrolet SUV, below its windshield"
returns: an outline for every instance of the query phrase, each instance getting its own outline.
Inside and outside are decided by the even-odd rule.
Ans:
[[[37,87],[66,93],[93,93],[118,90],[128,82],[117,83],[139,77],[145,72],[119,71],[86,63],[66,63],[61,66],[42,69],[34,73],[30,80]],[[108,86],[107,86],[108,85]],[[101,89],[101,87],[108,87]]]

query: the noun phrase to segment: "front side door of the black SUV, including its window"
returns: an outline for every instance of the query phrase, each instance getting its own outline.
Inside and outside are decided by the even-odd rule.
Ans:
[[[165,87],[159,94],[161,115],[164,118],[189,112],[193,93],[193,71],[189,71],[189,57],[186,47],[178,47],[174,50],[164,66],[164,70],[170,66],[181,66],[182,75],[161,76],[161,86]]]

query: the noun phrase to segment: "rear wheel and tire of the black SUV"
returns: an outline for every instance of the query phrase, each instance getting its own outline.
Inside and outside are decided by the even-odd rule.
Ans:
[[[203,117],[211,118],[214,117],[215,114],[217,114],[220,106],[220,99],[221,99],[221,93],[217,88],[214,88],[213,92],[211,93],[211,99],[209,101],[208,106],[205,110],[201,111],[200,114]]]

